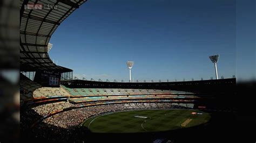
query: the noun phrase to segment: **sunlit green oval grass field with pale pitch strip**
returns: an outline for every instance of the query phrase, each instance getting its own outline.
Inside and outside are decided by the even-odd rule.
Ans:
[[[203,114],[192,115],[192,112]],[[200,125],[210,118],[209,113],[199,110],[134,110],[106,113],[89,118],[81,125],[94,133],[158,132]],[[185,126],[181,127],[181,124]]]

